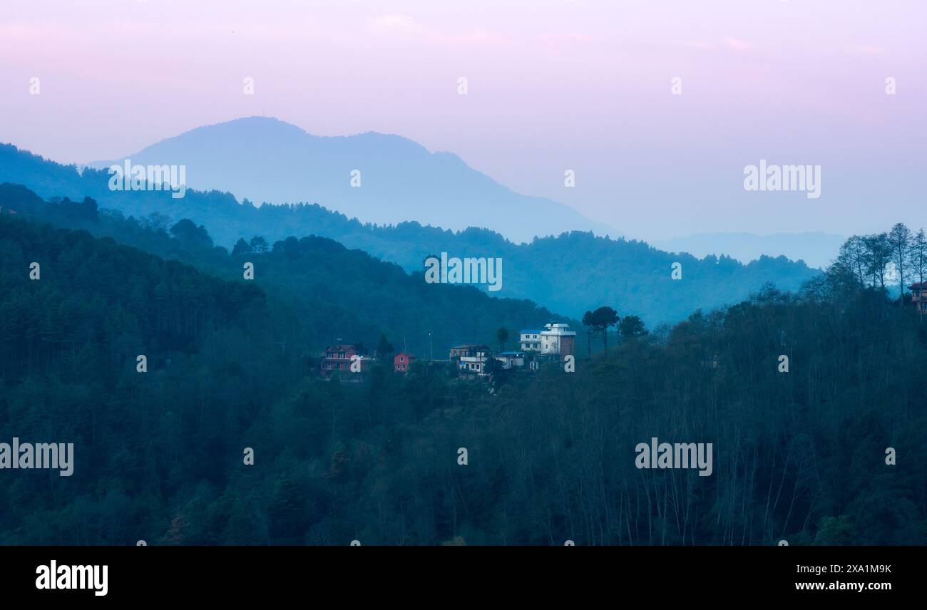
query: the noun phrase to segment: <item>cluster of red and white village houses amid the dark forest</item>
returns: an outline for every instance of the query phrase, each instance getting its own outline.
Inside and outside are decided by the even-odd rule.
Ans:
[[[449,350],[447,360],[419,359],[414,354],[400,351],[392,355],[393,373],[406,374],[414,362],[436,362],[450,364],[465,375],[491,375],[494,368],[505,371],[536,371],[546,362],[562,362],[566,356],[574,356],[576,350],[575,331],[569,324],[550,323],[542,328],[522,329],[518,333],[519,349],[493,351],[482,343],[464,343]],[[382,362],[387,355],[373,356],[359,353],[358,347],[349,344],[328,346],[319,364],[324,378],[333,373],[362,374],[370,370],[374,362]]]

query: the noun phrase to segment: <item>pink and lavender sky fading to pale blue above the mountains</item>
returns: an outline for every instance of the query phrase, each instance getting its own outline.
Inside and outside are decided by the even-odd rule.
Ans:
[[[645,239],[927,224],[925,109],[922,0],[0,0],[0,142],[398,133]],[[820,197],[746,191],[760,159]]]

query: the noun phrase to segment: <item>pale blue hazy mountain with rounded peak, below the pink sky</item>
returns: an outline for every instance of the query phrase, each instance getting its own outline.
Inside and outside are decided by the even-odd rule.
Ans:
[[[320,203],[362,222],[479,226],[516,242],[574,229],[616,235],[568,206],[519,195],[456,155],[429,152],[399,135],[318,136],[284,121],[250,117],[199,127],[126,159],[185,165],[187,184],[197,190],[227,191],[256,204]]]

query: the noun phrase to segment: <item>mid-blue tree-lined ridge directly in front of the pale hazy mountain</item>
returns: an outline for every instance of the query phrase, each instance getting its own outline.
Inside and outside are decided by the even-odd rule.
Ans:
[[[73,166],[0,145],[0,183],[25,184],[42,197],[80,201],[89,196],[101,208],[127,217],[146,219],[155,214],[171,224],[189,219],[205,226],[216,244],[229,249],[238,239],[254,235],[268,243],[292,235],[328,237],[395,262],[410,273],[422,269],[425,257],[442,251],[458,257],[498,257],[504,263],[503,283],[494,296],[530,299],[574,318],[590,306],[612,303],[634,311],[650,325],[676,323],[699,307],[743,299],[764,283],[796,290],[819,273],[785,257],[761,257],[749,264],[726,256],[698,259],[641,241],[583,232],[516,245],[482,228],[453,232],[418,222],[365,224],[318,204],[256,207],[247,199],[239,203],[232,195],[216,191],[187,190],[184,198],[172,198],[164,191],[114,192],[108,189],[108,178],[105,170],[78,172]],[[675,262],[681,265],[681,281],[671,277]]]

